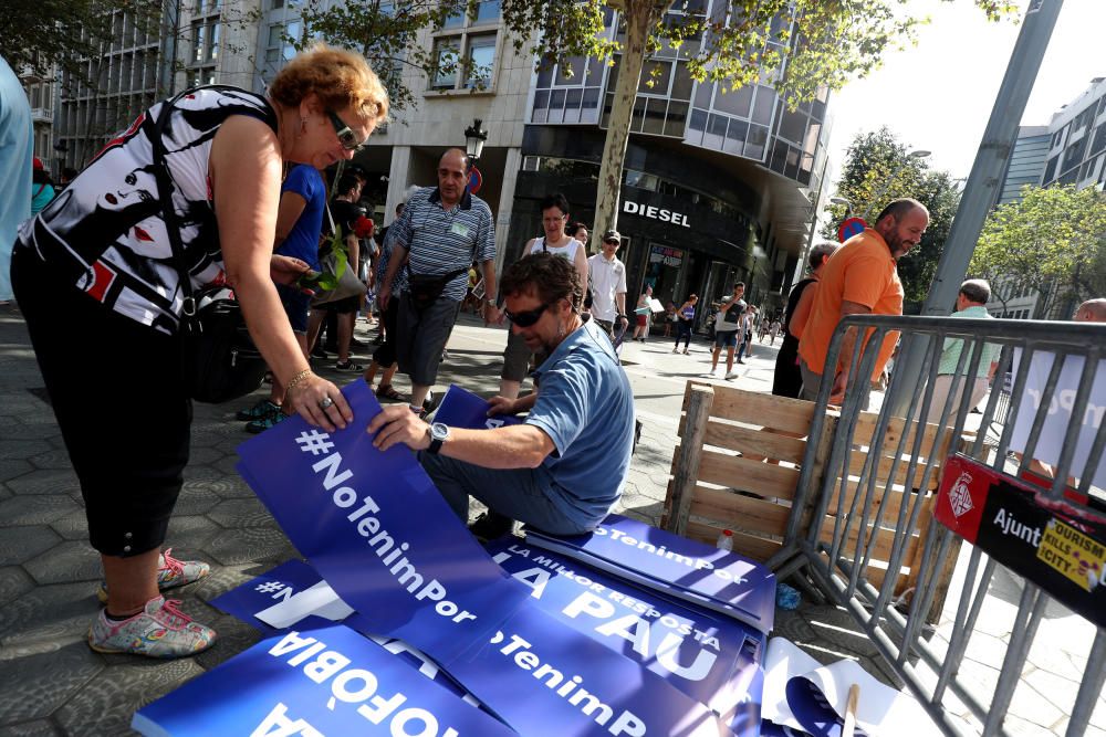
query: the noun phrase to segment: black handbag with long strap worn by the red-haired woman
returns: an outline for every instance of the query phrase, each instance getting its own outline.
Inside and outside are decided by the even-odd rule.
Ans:
[[[174,104],[181,95],[165,104],[154,127],[154,175],[161,202],[165,229],[173,249],[173,261],[180,282],[184,309],[178,327],[181,343],[181,379],[186,392],[198,402],[218,404],[238,399],[261,386],[265,360],[253,345],[242,307],[234,293],[226,286],[194,291],[185,248],[180,242],[180,225],[173,207],[173,178],[165,162],[161,131]]]

